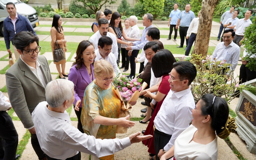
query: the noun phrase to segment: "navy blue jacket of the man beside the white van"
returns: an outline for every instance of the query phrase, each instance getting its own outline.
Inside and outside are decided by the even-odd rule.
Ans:
[[[4,20],[4,38],[5,45],[7,49],[10,49],[10,41],[13,41],[14,36],[21,31],[30,31],[35,35],[35,31],[31,26],[31,23],[25,16],[21,16],[18,14],[18,19],[15,22],[15,30],[12,21],[9,19],[9,16]]]

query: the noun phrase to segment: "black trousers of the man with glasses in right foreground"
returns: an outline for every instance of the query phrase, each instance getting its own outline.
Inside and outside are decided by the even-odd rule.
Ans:
[[[157,155],[159,151],[162,150],[163,147],[169,142],[170,139],[171,139],[171,135],[165,134],[155,129],[154,145],[155,145],[156,160],[160,160]]]

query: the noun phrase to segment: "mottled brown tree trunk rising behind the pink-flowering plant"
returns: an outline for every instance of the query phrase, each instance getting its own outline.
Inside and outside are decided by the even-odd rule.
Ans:
[[[213,12],[219,0],[203,0],[193,54],[207,56]]]

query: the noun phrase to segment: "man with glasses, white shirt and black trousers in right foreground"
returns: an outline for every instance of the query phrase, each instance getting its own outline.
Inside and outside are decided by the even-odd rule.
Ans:
[[[196,67],[188,61],[173,64],[169,73],[171,90],[154,120],[154,145],[156,159],[168,151],[175,139],[188,128],[192,120],[195,101],[190,84],[196,77]]]

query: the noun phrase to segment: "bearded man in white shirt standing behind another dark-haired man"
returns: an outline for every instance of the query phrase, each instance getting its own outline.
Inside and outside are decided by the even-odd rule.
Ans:
[[[108,36],[112,39],[113,44],[112,44],[112,50],[111,52],[115,55],[116,61],[118,58],[118,45],[117,45],[117,40],[116,40],[116,35],[108,32],[108,20],[101,18],[98,21],[98,31],[92,35],[89,39],[90,42],[94,44],[94,49],[97,50],[98,48],[98,42],[100,37],[102,36]]]

